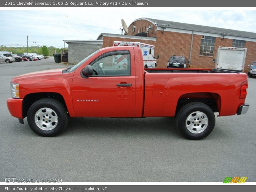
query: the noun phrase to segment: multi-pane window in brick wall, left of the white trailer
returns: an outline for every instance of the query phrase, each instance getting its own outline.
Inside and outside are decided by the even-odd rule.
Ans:
[[[213,57],[215,37],[202,36],[199,55]]]

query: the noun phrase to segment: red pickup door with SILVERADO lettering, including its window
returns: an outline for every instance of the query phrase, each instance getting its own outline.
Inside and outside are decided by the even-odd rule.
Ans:
[[[133,52],[108,52],[89,64],[92,76],[74,76],[72,99],[77,116],[135,116],[135,72],[131,58]]]

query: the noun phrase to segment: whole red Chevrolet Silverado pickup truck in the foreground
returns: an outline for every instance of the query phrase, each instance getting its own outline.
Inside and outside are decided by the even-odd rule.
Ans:
[[[139,47],[107,47],[72,68],[14,77],[7,106],[20,123],[27,117],[30,128],[41,136],[58,135],[68,117],[176,116],[180,133],[199,140],[212,132],[214,112],[247,112],[247,87],[244,73],[144,69]]]

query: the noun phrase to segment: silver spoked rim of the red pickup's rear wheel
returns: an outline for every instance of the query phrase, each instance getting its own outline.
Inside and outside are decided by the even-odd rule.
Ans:
[[[188,115],[186,127],[191,133],[201,133],[208,126],[208,117],[201,111],[195,111]]]

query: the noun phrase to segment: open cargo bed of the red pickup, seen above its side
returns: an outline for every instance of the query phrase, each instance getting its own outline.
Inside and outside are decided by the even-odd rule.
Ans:
[[[243,73],[225,69],[204,69],[204,68],[147,68],[148,73]]]

